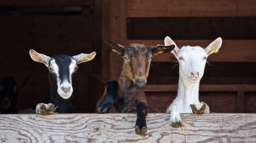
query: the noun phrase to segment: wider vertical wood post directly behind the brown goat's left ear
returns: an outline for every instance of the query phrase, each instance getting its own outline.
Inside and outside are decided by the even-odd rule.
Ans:
[[[126,0],[109,0],[109,39],[126,45]],[[110,52],[110,80],[118,80],[123,59],[117,53]]]

